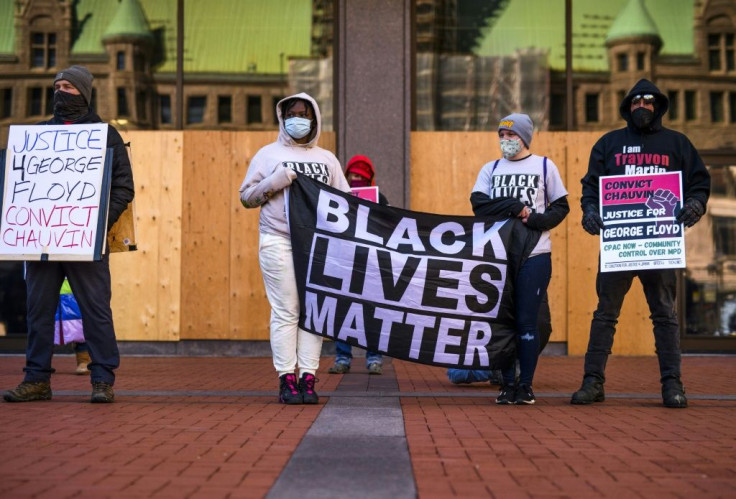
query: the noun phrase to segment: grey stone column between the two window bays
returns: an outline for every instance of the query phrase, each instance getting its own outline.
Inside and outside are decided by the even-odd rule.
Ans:
[[[412,0],[337,0],[335,129],[343,167],[373,160],[393,206],[409,206]]]

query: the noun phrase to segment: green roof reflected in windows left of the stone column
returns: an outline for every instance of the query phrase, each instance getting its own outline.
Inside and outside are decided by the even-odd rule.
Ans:
[[[176,0],[138,1],[162,50],[155,72],[175,72]],[[83,29],[72,54],[103,53],[118,3],[79,0],[75,8]],[[184,0],[184,71],[281,74],[289,57],[309,56],[311,29],[311,0]]]

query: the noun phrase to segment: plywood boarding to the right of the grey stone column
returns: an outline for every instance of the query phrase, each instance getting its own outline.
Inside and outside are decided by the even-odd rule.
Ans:
[[[580,226],[580,179],[599,132],[540,132],[531,151],[553,159],[569,192],[570,214],[552,231],[551,341],[567,341],[572,355],[585,353],[597,304],[598,239]],[[469,215],[470,191],[480,168],[500,157],[492,132],[414,132],[411,135],[412,210]],[[614,352],[651,354],[653,338],[646,301],[635,283],[622,311]],[[642,331],[644,334],[642,334]]]

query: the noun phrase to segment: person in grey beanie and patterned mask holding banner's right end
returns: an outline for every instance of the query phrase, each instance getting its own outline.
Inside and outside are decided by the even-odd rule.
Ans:
[[[567,190],[557,166],[547,157],[529,152],[534,126],[526,114],[514,113],[501,120],[498,136],[503,158],[481,168],[470,201],[478,216],[517,217],[529,229],[541,232],[539,242],[524,261],[514,284],[516,356],[503,370],[497,404],[533,404],[532,381],[539,357],[537,317],[552,276],[549,231],[564,220],[570,207]]]

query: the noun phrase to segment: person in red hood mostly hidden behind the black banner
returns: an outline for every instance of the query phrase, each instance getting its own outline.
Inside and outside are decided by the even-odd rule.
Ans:
[[[376,169],[368,156],[353,156],[345,168],[345,178],[351,188],[370,187],[376,185]],[[378,202],[388,204],[388,199],[380,191]],[[350,363],[353,360],[353,349],[344,341],[335,341],[335,364],[328,369],[330,374],[345,374],[350,371]],[[369,374],[381,374],[383,372],[383,356],[378,352],[366,351],[365,367]]]

